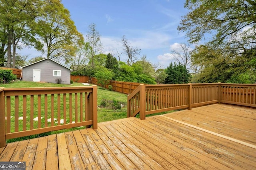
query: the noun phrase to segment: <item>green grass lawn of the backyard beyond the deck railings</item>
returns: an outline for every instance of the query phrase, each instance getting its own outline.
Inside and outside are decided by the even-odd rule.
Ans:
[[[11,82],[11,83],[0,84],[0,87],[4,87],[4,88],[69,87],[69,86],[72,87],[72,86],[84,86],[84,85],[82,83],[76,83],[76,82],[74,82],[73,84],[55,84],[55,83],[25,82],[25,81],[19,81],[19,80]],[[79,95],[78,95],[78,97],[79,97]],[[29,98],[30,98],[30,96],[28,96],[28,101],[29,101]],[[48,98],[50,98],[50,96]],[[36,99],[36,96],[35,96],[35,99]],[[44,101],[44,95],[41,96],[41,100]],[[68,98],[67,98],[67,100],[68,100]],[[107,106],[102,107],[101,106],[102,102],[106,102]],[[22,97],[20,98],[19,103],[22,104]],[[30,103],[28,102],[27,105],[29,105],[29,104]],[[115,109],[116,107],[114,107],[114,106],[121,106],[121,104],[122,104],[121,108]],[[37,107],[36,103],[34,105]],[[106,90],[106,89],[102,89],[102,88],[100,88],[100,86],[98,86],[97,106],[98,106],[98,123],[99,122],[104,122],[104,121],[116,120],[116,119],[123,119],[123,118],[127,117],[127,95],[126,94],[121,94],[121,93],[118,93],[118,92],[109,91],[109,90]],[[36,107],[34,108],[35,110],[37,109]],[[41,107],[44,107],[44,104],[41,104]],[[28,109],[27,129],[29,129],[29,127],[30,127],[29,108],[30,108],[30,106],[27,106],[27,109]],[[50,109],[50,107],[48,109]],[[48,113],[48,118],[50,118],[51,117],[50,111],[48,111],[48,112],[49,112]],[[57,112],[57,111],[54,111],[54,112]],[[164,113],[170,113],[170,111],[162,112],[162,113],[156,113],[156,114],[152,114],[152,115],[160,115],[160,114],[164,114]],[[147,115],[147,116],[152,116],[152,115]],[[22,116],[22,110],[20,111],[20,116]],[[44,116],[44,113],[42,113],[42,116]],[[67,118],[68,117],[69,116],[67,115]],[[136,117],[139,117],[139,115],[137,115]],[[61,119],[62,118],[63,117],[61,117]],[[12,120],[11,129],[12,129],[12,127],[14,128],[14,119],[12,118],[11,120]],[[44,118],[42,118],[42,127],[44,125],[44,121],[46,121],[46,120],[44,120]],[[67,120],[67,122],[68,121],[69,120]],[[22,120],[20,120],[19,125],[20,125],[19,129],[22,131]],[[48,123],[48,125],[50,126],[50,123]],[[34,121],[34,128],[37,128],[37,126],[38,126],[37,122]],[[14,141],[32,139],[32,138],[36,138],[36,137],[41,137],[41,136],[46,136],[46,135],[56,134],[56,133],[63,133],[63,132],[67,132],[67,131],[77,130],[77,129],[80,129],[80,128],[75,127],[75,128],[72,128],[72,129],[52,131],[52,132],[47,132],[47,133],[44,133],[44,134],[31,135],[31,136],[28,136],[28,137],[8,139],[6,142],[10,143],[10,142],[14,142]]]

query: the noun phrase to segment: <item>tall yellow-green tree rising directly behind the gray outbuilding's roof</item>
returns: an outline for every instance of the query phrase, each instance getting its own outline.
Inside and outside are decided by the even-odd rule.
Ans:
[[[69,11],[60,0],[47,1],[43,7],[45,15],[38,18],[34,26],[37,35],[46,45],[42,52],[49,58],[74,56],[74,44],[82,42],[83,36],[77,31]]]

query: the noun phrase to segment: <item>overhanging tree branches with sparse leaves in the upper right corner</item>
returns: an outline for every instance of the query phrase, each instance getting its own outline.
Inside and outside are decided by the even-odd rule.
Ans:
[[[238,44],[244,40],[255,42],[256,2],[252,0],[186,0],[184,7],[190,10],[182,17],[180,31],[188,31],[190,42],[198,42],[211,33],[212,43]],[[238,37],[240,37],[238,39]],[[244,44],[246,45],[246,44]]]

